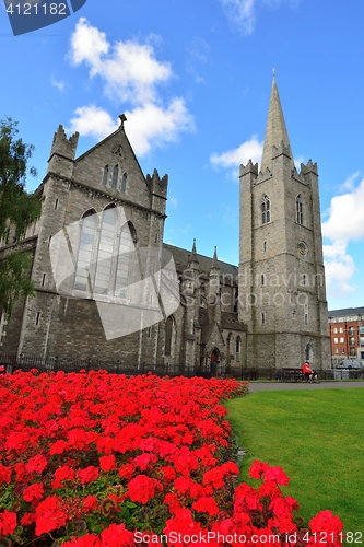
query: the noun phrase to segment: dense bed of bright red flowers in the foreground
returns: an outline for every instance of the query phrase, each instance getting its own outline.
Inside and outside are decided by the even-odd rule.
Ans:
[[[329,511],[302,528],[279,467],[235,488],[234,380],[107,372],[0,377],[0,545],[342,544]]]

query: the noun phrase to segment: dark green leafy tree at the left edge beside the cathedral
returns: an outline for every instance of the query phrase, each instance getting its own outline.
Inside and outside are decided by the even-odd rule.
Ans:
[[[37,175],[35,167],[28,167],[34,146],[25,144],[17,133],[16,121],[0,120],[0,241],[8,245],[0,256],[0,307],[8,319],[21,296],[34,295],[32,253],[22,240],[40,217],[43,202],[40,193],[25,189],[27,174]]]

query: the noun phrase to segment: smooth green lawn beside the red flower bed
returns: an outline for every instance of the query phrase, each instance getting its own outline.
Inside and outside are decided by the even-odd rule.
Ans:
[[[226,408],[246,452],[240,480],[257,484],[254,459],[281,466],[306,523],[329,509],[364,545],[364,389],[258,392]]]

